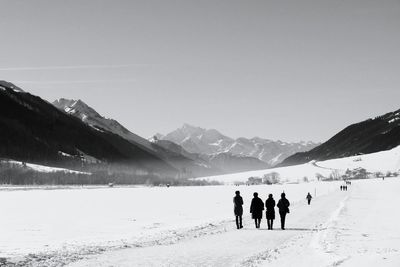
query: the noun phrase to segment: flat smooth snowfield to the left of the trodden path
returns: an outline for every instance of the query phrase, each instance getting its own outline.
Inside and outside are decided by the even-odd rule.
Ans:
[[[103,249],[174,243],[233,228],[235,190],[242,192],[248,211],[255,191],[262,198],[285,191],[292,202],[303,202],[307,192],[326,195],[338,186],[339,182],[320,182],[0,191],[0,258],[21,260],[35,254],[68,262],[71,255]]]

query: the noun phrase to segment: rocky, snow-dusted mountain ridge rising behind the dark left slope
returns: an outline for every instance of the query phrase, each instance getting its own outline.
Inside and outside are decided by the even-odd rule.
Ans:
[[[181,176],[204,176],[220,172],[205,160],[186,152],[183,148],[177,147],[171,142],[150,142],[132,133],[118,121],[101,116],[82,100],[61,98],[54,101],[53,105],[64,113],[78,118],[93,129],[114,133],[132,144],[138,145],[153,156],[160,157],[179,170]]]

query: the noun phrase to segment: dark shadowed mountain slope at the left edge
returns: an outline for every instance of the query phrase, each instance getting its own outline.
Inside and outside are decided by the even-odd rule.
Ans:
[[[164,174],[177,170],[139,144],[61,112],[40,97],[0,82],[0,157],[39,164],[123,164]]]

